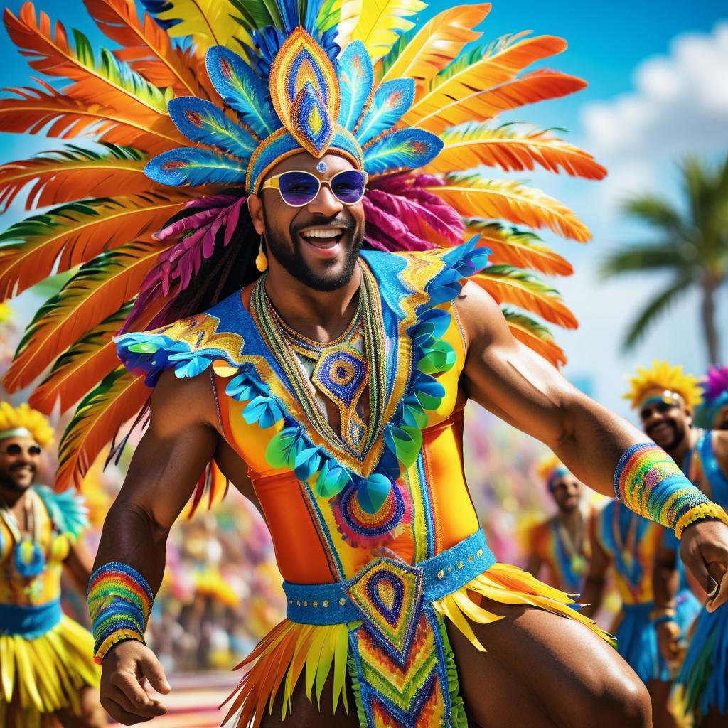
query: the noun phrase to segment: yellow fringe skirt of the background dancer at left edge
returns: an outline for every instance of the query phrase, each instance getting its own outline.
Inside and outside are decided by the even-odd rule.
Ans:
[[[33,639],[0,635],[0,726],[41,728],[52,713],[79,712],[79,689],[98,687],[91,633],[65,615]]]

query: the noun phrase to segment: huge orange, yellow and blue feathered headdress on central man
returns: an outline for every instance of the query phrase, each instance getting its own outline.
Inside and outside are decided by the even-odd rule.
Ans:
[[[547,68],[524,72],[565,41],[520,33],[481,44],[473,28],[490,4],[417,25],[420,0],[143,0],[141,18],[133,0],[84,3],[114,50],[95,52],[30,2],[4,15],[34,74],[66,82],[0,100],[0,131],[93,140],[0,167],[0,205],[27,190],[28,209],[46,208],[0,234],[0,301],[74,272],[3,379],[15,391],[43,375],[31,395],[42,411],[80,400],[60,442],[58,487],[79,483],[122,423],[144,420],[149,389],[119,366],[112,337],[205,310],[252,280],[245,195],[291,150],[329,149],[369,172],[370,248],[425,250],[480,234],[492,264],[475,280],[516,338],[565,361],[542,320],[577,322],[537,274],[571,266],[513,226],[579,242],[590,234],[561,202],[487,172],[604,176],[551,132],[495,122],[585,86]]]

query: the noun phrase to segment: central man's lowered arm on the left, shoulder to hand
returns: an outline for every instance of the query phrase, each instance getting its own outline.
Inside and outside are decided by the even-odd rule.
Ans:
[[[149,428],[108,511],[94,564],[95,570],[102,571],[95,571],[100,577],[92,577],[97,588],[90,592],[90,606],[95,624],[106,617],[106,633],[114,622],[118,636],[122,627],[139,621],[134,601],[137,593],[143,598],[144,582],[152,595],[157,593],[165,571],[167,534],[217,446],[214,418],[206,374],[182,381],[172,371],[162,375],[151,397]],[[108,569],[106,577],[104,569]],[[98,606],[102,604],[103,609]],[[169,692],[169,686],[162,666],[142,641],[122,640],[103,654],[101,704],[112,718],[132,725],[166,711],[146,694],[143,679],[148,678],[158,692]],[[97,650],[99,646],[98,641]]]

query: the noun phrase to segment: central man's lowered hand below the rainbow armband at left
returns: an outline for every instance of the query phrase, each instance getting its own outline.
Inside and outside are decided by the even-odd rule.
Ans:
[[[114,720],[130,726],[167,712],[165,705],[147,695],[146,679],[157,692],[170,692],[165,670],[146,645],[127,640],[106,653],[101,670],[101,705]]]

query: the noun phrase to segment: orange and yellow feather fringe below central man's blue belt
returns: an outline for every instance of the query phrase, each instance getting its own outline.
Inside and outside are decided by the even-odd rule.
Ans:
[[[464,587],[432,602],[435,612],[446,617],[477,648],[486,648],[475,636],[470,622],[488,624],[501,619],[480,606],[480,597],[499,604],[526,604],[577,620],[612,642],[612,636],[598,628],[595,622],[574,609],[574,601],[561,590],[544,584],[527,571],[505,563],[494,563]],[[240,684],[229,697],[232,700],[226,721],[240,711],[237,728],[252,724],[257,728],[264,711],[272,713],[273,703],[282,689],[282,718],[290,711],[293,689],[304,675],[306,695],[312,700],[315,687],[317,700],[333,671],[333,710],[339,704],[349,710],[344,682],[349,659],[349,629],[351,624],[304,625],[286,619],[274,627],[256,649],[237,666],[248,668]],[[234,698],[234,700],[233,700]],[[252,721],[252,723],[251,723]]]

